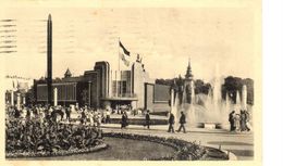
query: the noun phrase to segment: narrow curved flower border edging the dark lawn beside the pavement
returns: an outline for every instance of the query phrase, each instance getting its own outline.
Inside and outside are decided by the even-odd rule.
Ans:
[[[208,151],[210,149],[197,145],[194,142],[192,143],[175,138],[163,138],[157,136],[144,136],[144,135],[134,135],[134,133],[121,133],[121,132],[107,132],[103,133],[103,137],[150,141],[150,142],[156,142],[156,143],[161,143],[163,145],[172,146],[176,151],[175,154],[172,156],[162,156],[159,158],[147,158],[149,161],[198,161],[198,159],[204,161],[207,158],[213,158],[212,155],[213,152]],[[222,151],[218,151],[218,153],[221,154],[218,155],[221,156],[221,157],[217,157],[218,159],[227,159],[227,156]]]

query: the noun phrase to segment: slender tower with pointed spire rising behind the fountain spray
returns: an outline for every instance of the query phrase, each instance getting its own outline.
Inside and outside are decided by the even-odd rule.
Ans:
[[[193,104],[195,98],[194,95],[194,75],[192,73],[190,59],[188,59],[187,72],[184,80],[183,102]]]

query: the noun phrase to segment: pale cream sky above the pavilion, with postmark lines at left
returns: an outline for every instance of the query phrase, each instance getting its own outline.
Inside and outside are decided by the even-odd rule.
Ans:
[[[255,15],[246,8],[9,8],[0,15],[0,36],[14,36],[0,37],[7,75],[46,75],[49,13],[53,77],[63,77],[67,67],[83,75],[97,61],[118,69],[119,39],[131,62],[140,54],[151,78],[184,76],[188,59],[197,79],[210,81],[216,66],[221,76],[255,77]],[[7,50],[16,52],[1,53]],[[127,69],[122,61],[120,66]]]

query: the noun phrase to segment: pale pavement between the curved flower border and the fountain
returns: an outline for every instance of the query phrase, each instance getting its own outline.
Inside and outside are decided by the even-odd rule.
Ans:
[[[186,133],[167,132],[167,125],[144,126],[130,125],[121,129],[120,124],[102,124],[103,132],[126,132],[137,135],[151,135],[158,137],[174,137],[177,139],[196,142],[205,146],[221,149],[235,154],[238,161],[254,159],[254,135],[253,132],[230,132],[225,129],[188,128]]]

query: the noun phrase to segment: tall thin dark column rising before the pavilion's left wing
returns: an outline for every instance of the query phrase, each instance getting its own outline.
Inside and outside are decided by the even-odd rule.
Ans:
[[[52,98],[52,21],[51,14],[47,21],[47,103],[51,105]]]

